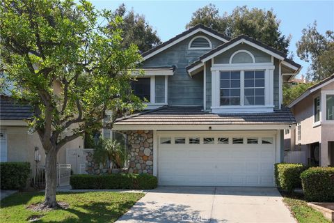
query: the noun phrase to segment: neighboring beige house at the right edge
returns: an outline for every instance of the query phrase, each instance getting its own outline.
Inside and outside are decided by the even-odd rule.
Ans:
[[[334,166],[334,75],[311,86],[288,107],[296,129],[285,130],[285,150],[305,151],[308,164]]]

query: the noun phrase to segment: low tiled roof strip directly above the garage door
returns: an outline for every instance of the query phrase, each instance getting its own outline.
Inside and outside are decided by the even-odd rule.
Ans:
[[[212,114],[202,107],[164,106],[119,118],[116,125],[250,125],[293,124],[292,112],[284,108],[270,113]]]

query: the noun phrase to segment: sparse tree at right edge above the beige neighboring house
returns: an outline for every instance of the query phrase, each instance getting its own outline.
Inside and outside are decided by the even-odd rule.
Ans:
[[[321,81],[334,73],[334,34],[326,31],[322,35],[317,31],[317,22],[303,29],[301,40],[296,43],[297,55],[306,62],[310,62],[308,79]]]

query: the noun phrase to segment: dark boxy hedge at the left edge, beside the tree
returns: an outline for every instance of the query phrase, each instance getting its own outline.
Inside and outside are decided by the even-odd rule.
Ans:
[[[1,162],[1,189],[18,190],[26,187],[30,176],[29,162]]]

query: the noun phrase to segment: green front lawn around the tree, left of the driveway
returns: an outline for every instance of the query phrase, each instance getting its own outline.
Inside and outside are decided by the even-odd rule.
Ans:
[[[70,206],[67,209],[33,211],[26,207],[43,201],[42,192],[19,192],[1,201],[1,222],[115,222],[127,212],[143,193],[85,192],[57,193],[57,201]]]

